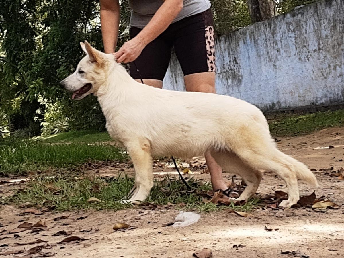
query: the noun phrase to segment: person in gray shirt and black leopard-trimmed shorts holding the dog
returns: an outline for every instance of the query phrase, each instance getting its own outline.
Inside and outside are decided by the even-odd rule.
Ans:
[[[129,63],[129,74],[137,81],[140,82],[141,74],[144,84],[162,88],[174,47],[184,74],[186,90],[216,93],[215,33],[210,1],[129,0],[129,6],[130,40],[115,52],[119,1],[100,0],[105,53],[114,53],[118,63]],[[213,189],[226,190],[228,186],[224,182],[221,167],[210,152],[205,153],[205,159]]]

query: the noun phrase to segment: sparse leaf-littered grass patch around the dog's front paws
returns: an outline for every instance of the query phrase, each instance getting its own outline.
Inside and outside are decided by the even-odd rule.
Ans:
[[[176,204],[176,208],[197,210],[201,212],[232,208],[237,211],[249,211],[257,203],[251,200],[243,206],[218,206],[205,203],[200,193],[211,190],[209,183],[203,184],[199,180],[189,179],[188,183],[193,190],[186,191],[180,180],[170,179],[167,176],[162,180],[154,181],[154,186],[147,201],[149,203],[166,205],[168,202]],[[75,209],[110,209],[118,210],[131,207],[131,204],[121,204],[119,201],[128,198],[133,187],[133,179],[128,176],[118,176],[111,179],[77,178],[57,175],[55,178],[38,177],[7,198],[7,203],[22,204],[29,202],[33,205],[54,208],[58,211]],[[87,202],[90,197],[96,197],[100,202]],[[178,204],[182,204],[178,206]]]

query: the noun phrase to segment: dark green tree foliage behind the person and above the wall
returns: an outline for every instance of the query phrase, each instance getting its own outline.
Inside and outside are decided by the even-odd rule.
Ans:
[[[278,10],[284,13],[314,1],[280,0]],[[129,4],[120,2],[117,47],[129,39]],[[246,0],[211,3],[217,35],[250,24]],[[0,112],[12,124],[10,131],[30,137],[40,132],[104,129],[96,98],[72,101],[58,87],[83,56],[80,41],[103,49],[99,21],[95,0],[0,0]]]

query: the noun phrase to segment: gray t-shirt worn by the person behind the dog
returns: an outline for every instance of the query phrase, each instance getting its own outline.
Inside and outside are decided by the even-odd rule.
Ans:
[[[163,2],[163,0],[129,0],[131,8],[130,26],[144,28]],[[183,9],[173,22],[204,12],[210,8],[210,5],[209,0],[184,0]]]

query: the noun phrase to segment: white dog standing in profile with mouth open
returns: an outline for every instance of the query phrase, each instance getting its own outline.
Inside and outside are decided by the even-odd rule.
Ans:
[[[282,207],[298,202],[298,178],[318,186],[307,166],[276,148],[264,115],[254,105],[228,96],[143,85],[113,55],[87,41],[80,45],[87,55],[61,85],[73,92],[73,99],[93,93],[110,136],[127,148],[135,167],[135,191],[123,201],[143,201],[149,195],[152,156],[192,158],[206,151],[223,169],[245,180],[247,187],[238,200],[255,194],[260,171],[275,172],[286,182],[289,198]]]

